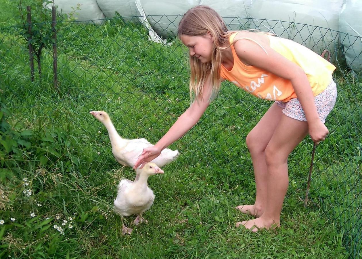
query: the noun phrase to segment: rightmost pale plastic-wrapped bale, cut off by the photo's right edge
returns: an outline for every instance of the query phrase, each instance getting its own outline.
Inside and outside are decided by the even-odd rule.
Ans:
[[[340,14],[340,37],[347,65],[362,72],[362,1],[346,0]],[[348,35],[347,35],[348,34]]]

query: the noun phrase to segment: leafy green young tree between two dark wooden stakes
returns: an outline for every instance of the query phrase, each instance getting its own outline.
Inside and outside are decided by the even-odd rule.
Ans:
[[[55,39],[53,35],[55,32],[59,32],[64,28],[64,22],[74,21],[74,14],[80,10],[80,4],[77,4],[76,8],[67,15],[58,13],[56,17],[56,25],[52,28],[52,10],[54,1],[49,0],[13,0],[18,9],[18,25],[19,33],[26,39],[26,44],[29,47],[33,46],[33,53],[36,56],[38,63],[39,78],[41,78],[41,56],[43,49],[51,49]],[[28,24],[28,11],[27,6],[31,7],[31,34],[29,34]],[[28,39],[31,37],[31,40]]]

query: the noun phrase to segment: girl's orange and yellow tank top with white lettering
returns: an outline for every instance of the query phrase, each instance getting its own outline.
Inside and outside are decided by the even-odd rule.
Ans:
[[[236,34],[237,32],[230,36],[230,43],[233,42]],[[331,82],[332,73],[336,67],[299,43],[272,35],[267,36],[271,49],[302,67],[311,84],[313,96],[323,92]],[[233,45],[231,45],[231,51],[234,64],[230,71],[221,65],[222,78],[262,99],[287,102],[292,98],[297,98],[290,80],[258,67],[247,66],[241,62]]]

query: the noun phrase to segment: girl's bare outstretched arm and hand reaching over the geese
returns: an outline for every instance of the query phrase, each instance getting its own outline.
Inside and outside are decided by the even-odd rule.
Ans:
[[[142,155],[134,165],[134,169],[142,168],[144,164],[150,162],[160,155],[161,151],[181,138],[189,129],[191,129],[201,118],[207,106],[210,104],[211,84],[207,79],[203,85],[202,98],[194,101],[190,107],[178,117],[177,121],[171,126],[167,133],[156,143],[155,146],[143,149]]]

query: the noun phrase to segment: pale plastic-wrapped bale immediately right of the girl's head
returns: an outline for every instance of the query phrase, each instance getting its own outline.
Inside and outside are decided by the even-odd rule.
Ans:
[[[248,17],[251,0],[201,0],[200,5],[214,9],[230,30],[249,29]]]

